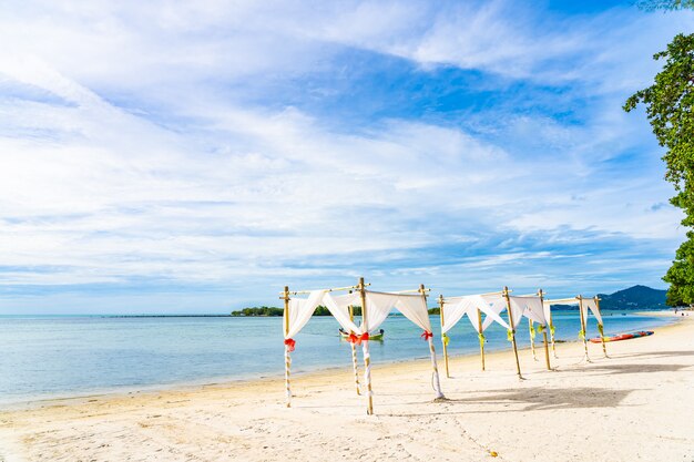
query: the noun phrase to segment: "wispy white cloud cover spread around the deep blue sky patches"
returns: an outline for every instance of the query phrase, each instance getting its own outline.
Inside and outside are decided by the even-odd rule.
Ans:
[[[678,215],[652,207],[666,202],[667,185],[606,165],[644,137],[629,141],[633,122],[614,107],[626,83],[605,80],[626,64],[618,51],[632,50],[635,28],[669,35],[663,20],[615,27],[605,39],[619,11],[537,30],[539,13],[513,7],[510,20],[503,2],[438,11],[416,2],[314,7],[0,9],[0,258],[8,267],[0,284],[153,278],[257,287],[371,268],[382,280],[429,275],[452,285],[468,268],[488,271],[474,284],[513,276],[530,285],[547,274],[524,279],[507,271],[510,263],[553,255],[514,249],[465,266],[392,261],[473,245],[478,233],[592,229],[670,245],[680,237]],[[619,42],[600,51],[612,39]],[[598,82],[601,96],[580,125],[482,112],[480,126],[490,131],[481,136],[392,116],[360,130],[341,121],[338,130],[297,107],[248,105],[234,94],[237,82],[339,65],[330,60],[345,47],[422,66],[575,81],[578,93]],[[571,57],[580,58],[575,66]],[[624,72],[631,83],[651,68],[639,62]]]

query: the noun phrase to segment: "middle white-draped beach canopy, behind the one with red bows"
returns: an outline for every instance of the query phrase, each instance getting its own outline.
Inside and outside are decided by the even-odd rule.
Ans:
[[[519,311],[518,307],[511,305],[508,287],[504,287],[502,291],[460,296],[445,299],[439,297],[439,306],[441,312],[441,337],[443,341],[443,357],[446,361],[446,376],[448,373],[448,342],[449,338],[447,332],[465,316],[468,315],[468,319],[472,324],[474,330],[477,330],[480,339],[480,356],[482,359],[482,370],[484,370],[484,330],[491,326],[492,322],[499,322],[507,328],[509,335],[509,341],[513,345],[513,352],[516,355],[516,367],[518,377],[522,379],[520,362],[518,360],[518,348],[516,346],[516,326],[518,322],[514,319],[520,319],[522,310]],[[504,321],[501,318],[501,312],[507,310],[509,321]],[[482,312],[486,314],[482,321]]]

